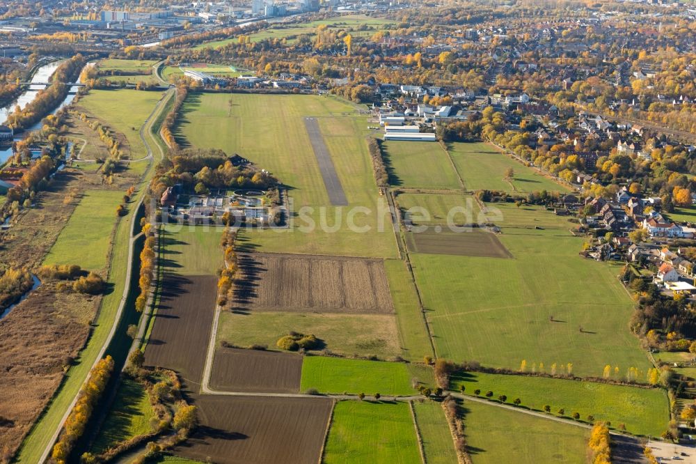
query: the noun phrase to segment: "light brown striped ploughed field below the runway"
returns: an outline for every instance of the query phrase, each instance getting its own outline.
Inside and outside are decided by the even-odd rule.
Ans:
[[[394,311],[383,261],[297,254],[239,256],[236,311]]]

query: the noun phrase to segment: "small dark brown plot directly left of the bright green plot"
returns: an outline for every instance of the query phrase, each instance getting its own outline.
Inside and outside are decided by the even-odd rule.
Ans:
[[[301,376],[301,355],[217,348],[210,386],[226,392],[298,393]]]

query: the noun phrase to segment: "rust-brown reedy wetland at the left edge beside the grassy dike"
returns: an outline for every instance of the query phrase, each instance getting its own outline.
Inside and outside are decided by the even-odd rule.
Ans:
[[[85,319],[97,302],[44,284],[0,320],[0,462],[17,449],[61,382],[63,367],[77,357],[89,333]]]

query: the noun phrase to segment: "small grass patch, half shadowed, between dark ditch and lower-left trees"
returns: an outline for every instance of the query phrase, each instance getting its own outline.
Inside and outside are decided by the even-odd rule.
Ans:
[[[92,445],[92,451],[101,453],[118,442],[150,433],[150,420],[154,417],[148,392],[138,382],[124,379],[113,401],[113,408]]]

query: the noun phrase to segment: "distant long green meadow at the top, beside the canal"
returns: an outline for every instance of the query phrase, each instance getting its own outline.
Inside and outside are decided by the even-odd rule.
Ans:
[[[309,34],[310,36],[314,36],[317,31],[317,27],[322,24],[329,26],[329,29],[333,31],[339,31],[341,29],[350,31],[352,36],[357,37],[372,36],[375,32],[384,30],[385,26],[396,23],[391,20],[367,17],[364,15],[345,15],[340,17],[332,17],[328,20],[317,20],[312,22],[290,24],[287,26],[273,26],[269,29],[264,29],[257,33],[250,34],[248,37],[252,42],[260,42],[261,40],[265,39],[280,40],[287,38],[288,43],[293,43],[296,42],[296,38],[292,38],[293,36],[299,36],[301,34]],[[367,26],[368,29],[359,30],[361,26]],[[229,43],[237,43],[237,37],[203,43],[196,45],[194,48],[217,48],[228,45]]]

